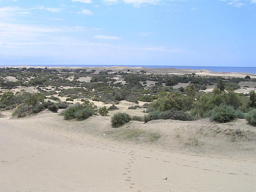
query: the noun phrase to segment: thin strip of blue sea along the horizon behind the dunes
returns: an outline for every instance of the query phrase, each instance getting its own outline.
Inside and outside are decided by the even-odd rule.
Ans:
[[[3,65],[0,65],[4,67]],[[8,66],[8,65],[6,65]],[[10,66],[10,65],[9,65]],[[18,66],[18,65],[17,65]],[[245,72],[256,74],[256,67],[238,67],[238,66],[178,66],[178,65],[29,65],[29,66],[63,66],[63,67],[111,67],[111,66],[129,66],[129,67],[146,67],[146,68],[176,68],[176,69],[207,69],[213,72]],[[13,66],[15,67],[15,66]]]

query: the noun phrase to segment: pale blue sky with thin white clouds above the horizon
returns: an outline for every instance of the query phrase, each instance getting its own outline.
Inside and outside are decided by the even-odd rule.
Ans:
[[[0,65],[256,66],[256,0],[0,0]]]

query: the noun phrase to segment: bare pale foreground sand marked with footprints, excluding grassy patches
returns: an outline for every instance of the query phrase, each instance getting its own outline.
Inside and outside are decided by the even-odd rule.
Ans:
[[[112,129],[110,117],[65,121],[59,114],[42,112],[18,120],[1,118],[0,191],[255,191],[255,151],[250,157],[237,155],[239,150],[224,157],[209,150],[173,150],[164,146],[173,142],[172,126],[188,124],[132,124],[155,128],[163,137],[153,144],[110,140],[103,136]]]

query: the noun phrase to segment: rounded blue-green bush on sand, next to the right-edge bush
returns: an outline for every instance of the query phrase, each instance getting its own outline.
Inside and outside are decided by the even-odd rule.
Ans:
[[[237,118],[237,113],[230,105],[221,104],[210,111],[210,119],[219,123],[227,123]]]

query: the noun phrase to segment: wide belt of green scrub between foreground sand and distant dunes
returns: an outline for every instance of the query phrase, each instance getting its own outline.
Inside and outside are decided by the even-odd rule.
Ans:
[[[15,77],[17,81],[7,81],[6,77]],[[90,82],[77,81],[80,77],[90,77]],[[153,82],[150,86],[146,81]],[[0,108],[16,109],[14,115],[24,117],[44,109],[56,112],[70,105],[61,102],[81,99],[83,105],[70,106],[65,118],[83,120],[92,114],[108,115],[108,111],[118,109],[121,100],[137,103],[130,109],[147,108],[149,112],[144,121],[152,119],[194,120],[211,118],[218,122],[227,122],[234,118],[244,118],[248,113],[248,122],[253,122],[253,110],[256,108],[256,93],[235,93],[241,81],[256,81],[250,76],[245,78],[198,77],[196,74],[167,75],[146,74],[146,71],[112,71],[95,69],[48,69],[48,68],[0,68]],[[122,83],[124,82],[124,83]],[[187,83],[187,87],[174,89],[178,83]],[[201,90],[215,85],[213,92]],[[35,87],[38,93],[24,90],[9,92],[17,87]],[[1,93],[2,92],[2,93]],[[45,99],[52,101],[45,102]],[[108,109],[96,109],[89,100],[112,103]],[[138,102],[150,102],[139,106]],[[115,105],[114,105],[115,104]],[[73,111],[73,112],[72,112]],[[89,115],[89,116],[88,116]],[[119,114],[120,116],[120,114]],[[222,119],[223,118],[223,119]],[[133,117],[134,120],[141,118]],[[253,123],[250,123],[253,124]]]

